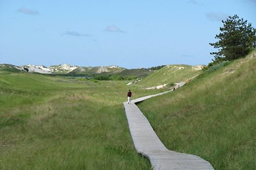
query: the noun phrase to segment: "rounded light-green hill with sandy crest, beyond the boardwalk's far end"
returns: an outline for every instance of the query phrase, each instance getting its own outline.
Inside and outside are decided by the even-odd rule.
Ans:
[[[169,65],[154,71],[154,73],[143,78],[138,82],[138,85],[152,87],[156,85],[163,85],[165,83],[179,83],[180,81],[187,80],[197,74],[202,73],[197,67],[188,65]]]

